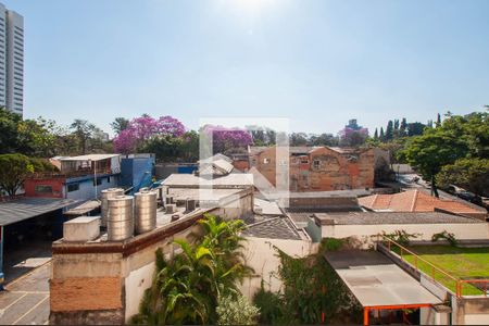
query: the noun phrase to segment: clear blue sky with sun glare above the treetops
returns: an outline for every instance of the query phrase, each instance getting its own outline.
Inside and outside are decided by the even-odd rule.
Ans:
[[[24,16],[25,117],[336,134],[489,104],[489,1],[0,1]]]

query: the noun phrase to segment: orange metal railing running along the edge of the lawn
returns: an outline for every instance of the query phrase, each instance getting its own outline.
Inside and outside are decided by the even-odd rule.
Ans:
[[[377,235],[377,242],[380,242],[380,237],[383,238],[383,241],[387,242],[387,248],[390,251],[392,251],[392,246],[399,248],[400,253],[399,256],[401,258],[401,261],[406,262],[408,264],[411,264],[409,261],[406,261],[404,259],[405,253],[409,253],[413,256],[414,259],[414,267],[416,268],[416,271],[418,272],[423,272],[425,274],[428,274],[428,276],[431,277],[432,280],[436,280],[436,275],[437,273],[440,275],[446,276],[447,278],[449,278],[450,280],[452,280],[455,285],[455,294],[457,298],[463,297],[463,286],[464,284],[484,284],[482,289],[479,289],[478,287],[474,287],[477,288],[478,290],[480,290],[485,297],[487,297],[487,290],[488,290],[488,284],[489,284],[489,279],[479,279],[479,278],[474,278],[474,279],[461,279],[459,277],[455,277],[453,275],[450,275],[447,271],[438,267],[437,265],[432,264],[431,262],[421,258],[419,255],[417,255],[415,252],[413,252],[412,250],[409,250],[408,248],[403,247],[402,244],[396,242],[394,240],[390,239],[389,237],[386,237],[385,235]],[[418,267],[418,263],[423,262],[426,265],[429,266],[429,272],[426,273],[426,271],[422,271]]]

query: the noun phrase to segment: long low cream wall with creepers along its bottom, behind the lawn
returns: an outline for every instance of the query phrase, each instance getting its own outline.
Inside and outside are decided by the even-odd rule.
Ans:
[[[405,230],[408,234],[421,234],[416,240],[431,240],[434,234],[447,230],[454,234],[456,239],[488,239],[489,224],[457,223],[457,224],[379,224],[379,225],[323,225],[323,238],[356,237],[371,243],[371,236],[378,234]]]

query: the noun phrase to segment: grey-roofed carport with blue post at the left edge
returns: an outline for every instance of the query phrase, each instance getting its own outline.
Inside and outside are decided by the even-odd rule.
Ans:
[[[0,202],[0,286],[4,280],[4,241],[5,227],[14,225],[22,225],[23,222],[42,216],[46,214],[53,214],[52,224],[58,225],[61,234],[63,223],[63,212],[66,208],[77,203],[71,199],[53,199],[53,198],[18,198],[11,201]],[[51,216],[49,216],[51,217]],[[61,236],[61,235],[60,235]]]

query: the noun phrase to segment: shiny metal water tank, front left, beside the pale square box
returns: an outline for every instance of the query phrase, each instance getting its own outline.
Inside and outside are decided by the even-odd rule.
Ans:
[[[134,234],[134,197],[108,199],[106,235],[109,241],[122,241]]]

